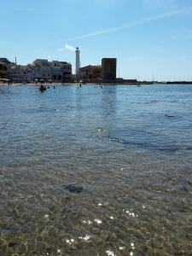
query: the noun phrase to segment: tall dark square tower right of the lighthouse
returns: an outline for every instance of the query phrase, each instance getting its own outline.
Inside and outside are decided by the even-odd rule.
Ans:
[[[102,81],[114,82],[117,73],[117,59],[104,58],[102,59]]]

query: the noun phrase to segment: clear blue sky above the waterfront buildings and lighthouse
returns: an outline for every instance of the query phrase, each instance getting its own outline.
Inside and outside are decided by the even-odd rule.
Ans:
[[[191,0],[0,0],[0,56],[81,65],[117,57],[126,79],[192,80]]]

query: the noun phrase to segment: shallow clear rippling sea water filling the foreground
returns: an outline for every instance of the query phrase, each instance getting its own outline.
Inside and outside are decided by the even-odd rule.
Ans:
[[[188,85],[1,86],[0,255],[192,255],[191,113]]]

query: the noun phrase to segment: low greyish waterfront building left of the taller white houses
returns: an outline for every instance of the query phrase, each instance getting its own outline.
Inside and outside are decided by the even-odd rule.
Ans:
[[[22,65],[11,65],[8,68],[8,79],[15,83],[32,82],[32,67]]]

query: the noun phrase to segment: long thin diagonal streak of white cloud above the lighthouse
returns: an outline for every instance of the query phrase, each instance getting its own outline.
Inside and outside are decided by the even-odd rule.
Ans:
[[[127,24],[122,25],[122,26],[117,26],[117,27],[113,27],[113,28],[109,28],[109,29],[105,29],[105,30],[101,30],[101,31],[97,31],[97,32],[86,33],[86,34],[80,35],[78,37],[70,38],[69,40],[90,38],[90,37],[95,37],[95,36],[99,36],[99,35],[102,35],[102,34],[117,32],[119,30],[123,30],[123,29],[130,28],[130,27],[133,27],[133,26],[140,26],[140,25],[143,25],[143,24],[147,24],[147,23],[153,22],[155,20],[163,20],[163,19],[166,19],[168,17],[175,16],[175,15],[181,15],[183,13],[189,13],[189,11],[191,11],[191,10],[192,9],[176,9],[176,10],[171,11],[171,12],[166,12],[166,13],[163,13],[163,14],[160,14],[160,15],[151,16],[151,17],[148,17],[148,18],[145,18],[145,19],[142,19],[142,20],[137,20],[137,21],[134,21],[134,22],[131,22],[131,23],[127,23]]]

